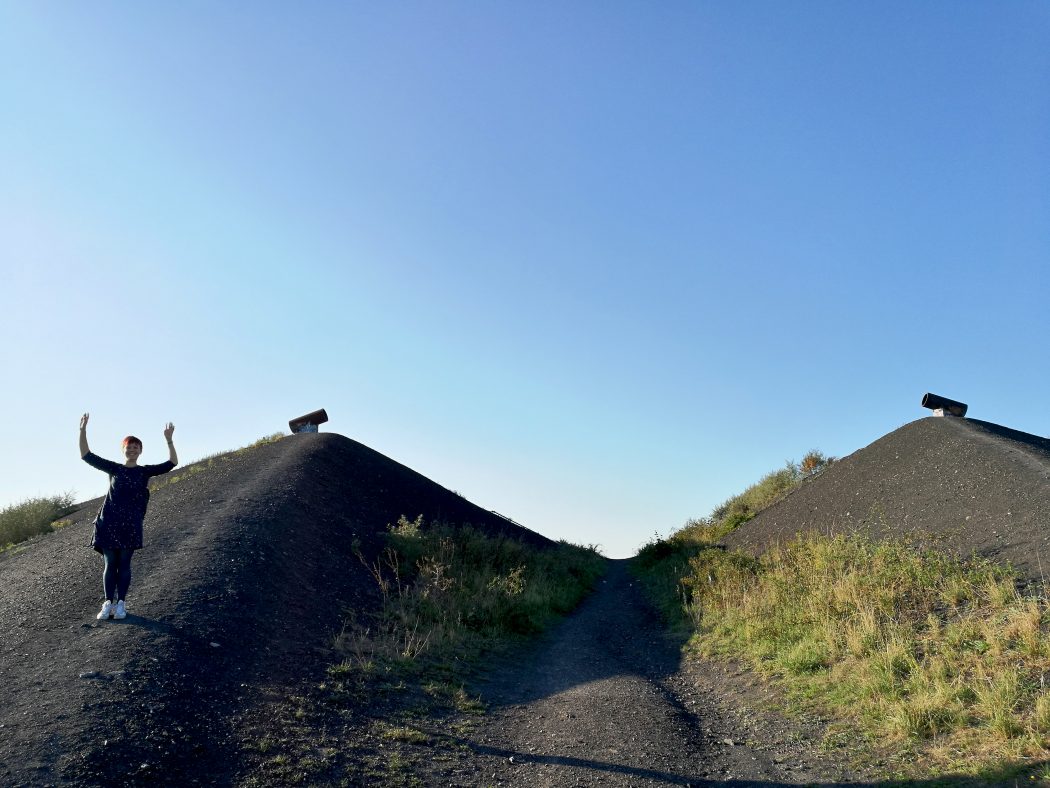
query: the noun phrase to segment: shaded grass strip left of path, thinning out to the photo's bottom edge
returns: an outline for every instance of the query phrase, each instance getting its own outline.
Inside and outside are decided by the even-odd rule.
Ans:
[[[608,565],[591,547],[539,547],[405,517],[378,556],[358,556],[379,604],[346,621],[336,639],[341,660],[320,690],[330,708],[372,718],[341,754],[379,786],[420,785],[423,759],[458,753],[458,738],[485,712],[466,688],[480,658],[572,610]]]

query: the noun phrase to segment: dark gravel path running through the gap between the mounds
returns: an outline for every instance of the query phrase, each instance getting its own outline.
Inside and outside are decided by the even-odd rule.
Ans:
[[[489,713],[461,742],[470,756],[432,766],[439,773],[428,784],[843,782],[797,723],[758,708],[760,688],[741,689],[723,668],[681,664],[680,642],[665,634],[627,561],[611,562],[600,588],[534,651],[494,672],[482,689]]]

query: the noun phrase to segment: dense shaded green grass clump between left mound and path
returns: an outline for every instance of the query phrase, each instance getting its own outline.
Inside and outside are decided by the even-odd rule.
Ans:
[[[539,548],[470,525],[402,517],[374,560],[379,609],[339,638],[344,665],[410,672],[455,670],[464,657],[544,629],[579,604],[605,572],[593,548]]]

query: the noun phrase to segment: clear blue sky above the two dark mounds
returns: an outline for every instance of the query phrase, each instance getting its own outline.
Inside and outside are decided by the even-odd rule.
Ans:
[[[0,505],[323,407],[627,556],[926,391],[1050,433],[1048,261],[1042,0],[0,3]]]

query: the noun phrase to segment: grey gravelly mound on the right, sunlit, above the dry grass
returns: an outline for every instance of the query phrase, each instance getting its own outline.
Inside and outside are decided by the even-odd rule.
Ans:
[[[973,419],[912,421],[831,465],[727,538],[758,554],[862,532],[1050,578],[1050,440]]]

